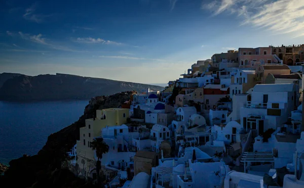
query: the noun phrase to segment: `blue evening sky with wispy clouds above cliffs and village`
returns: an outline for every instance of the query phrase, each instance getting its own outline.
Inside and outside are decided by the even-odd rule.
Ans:
[[[238,48],[304,43],[302,0],[0,1],[0,73],[175,80]]]

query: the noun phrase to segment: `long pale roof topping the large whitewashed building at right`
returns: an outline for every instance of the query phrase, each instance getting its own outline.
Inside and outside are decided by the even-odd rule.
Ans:
[[[293,91],[293,83],[256,84],[253,92],[284,92]]]

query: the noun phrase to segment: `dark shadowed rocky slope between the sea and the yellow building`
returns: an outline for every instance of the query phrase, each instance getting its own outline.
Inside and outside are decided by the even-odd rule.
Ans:
[[[131,91],[117,93],[97,101],[90,101],[84,115],[62,130],[51,134],[46,145],[37,155],[12,160],[4,176],[0,176],[0,187],[95,187],[62,169],[66,153],[79,139],[79,128],[85,126],[85,119],[96,115],[97,109],[118,107],[130,99]],[[109,106],[110,105],[110,106]]]

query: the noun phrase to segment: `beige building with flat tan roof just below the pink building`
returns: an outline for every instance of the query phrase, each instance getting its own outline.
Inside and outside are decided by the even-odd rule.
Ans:
[[[287,65],[259,65],[255,69],[254,81],[259,84],[265,83],[268,74],[290,74],[291,70]]]

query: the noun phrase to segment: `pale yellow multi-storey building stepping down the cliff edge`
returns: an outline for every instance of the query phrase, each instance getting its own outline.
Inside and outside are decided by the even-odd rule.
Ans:
[[[86,119],[86,126],[80,128],[80,140],[77,140],[77,163],[80,168],[88,172],[88,168],[94,167],[94,151],[90,148],[90,142],[94,137],[100,136],[101,129],[106,126],[116,126],[127,123],[129,109],[109,108],[96,110],[96,118]],[[84,161],[82,161],[84,159]],[[83,164],[83,162],[85,164]],[[86,174],[87,176],[89,174]]]

